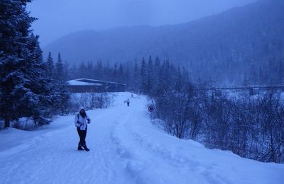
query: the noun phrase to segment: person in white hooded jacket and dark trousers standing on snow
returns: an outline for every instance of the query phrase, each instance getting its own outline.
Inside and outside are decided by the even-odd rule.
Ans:
[[[86,135],[87,135],[87,124],[91,122],[91,119],[87,116],[84,108],[80,108],[79,113],[75,116],[75,126],[77,127],[77,132],[80,137],[80,142],[78,143],[78,150],[89,151],[86,145]],[[82,147],[84,149],[82,149]]]

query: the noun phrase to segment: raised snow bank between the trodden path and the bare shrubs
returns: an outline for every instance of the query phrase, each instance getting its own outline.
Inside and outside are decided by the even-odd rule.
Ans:
[[[243,159],[172,137],[151,124],[145,97],[133,105],[113,137],[137,183],[283,183],[284,164]]]

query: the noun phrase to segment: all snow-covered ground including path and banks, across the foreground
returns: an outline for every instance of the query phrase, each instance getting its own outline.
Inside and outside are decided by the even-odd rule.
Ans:
[[[74,116],[45,130],[1,131],[0,183],[284,183],[284,164],[243,159],[158,130],[146,115],[146,98],[134,97],[118,93],[114,107],[87,112],[89,152],[77,151]]]

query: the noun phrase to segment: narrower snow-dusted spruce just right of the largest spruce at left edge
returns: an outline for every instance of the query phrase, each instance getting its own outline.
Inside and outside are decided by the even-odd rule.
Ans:
[[[28,87],[31,88],[33,96],[35,96],[34,99],[38,99],[38,102],[33,101],[31,108],[27,108],[27,104],[23,108],[26,111],[25,116],[33,117],[35,123],[39,125],[45,125],[48,123],[48,119],[45,117],[50,116],[54,86],[52,81],[46,77],[45,72],[47,69],[45,63],[43,63],[43,54],[38,43],[38,36],[31,35],[28,47],[31,53],[24,69],[26,79],[31,81],[31,85]]]

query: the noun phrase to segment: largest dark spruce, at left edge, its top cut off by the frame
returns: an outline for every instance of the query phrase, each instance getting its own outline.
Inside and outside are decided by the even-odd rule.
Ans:
[[[0,116],[5,127],[20,117],[41,117],[40,104],[48,93],[38,38],[29,29],[35,18],[26,11],[28,2],[0,1]]]

